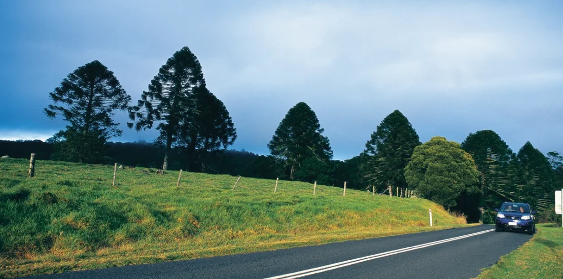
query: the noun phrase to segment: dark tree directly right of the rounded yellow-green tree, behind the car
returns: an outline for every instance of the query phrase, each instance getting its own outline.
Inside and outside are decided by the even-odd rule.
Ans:
[[[459,202],[471,207],[461,210],[466,212],[468,219],[475,222],[480,217],[479,214],[486,214],[485,211],[494,209],[503,201],[513,200],[509,168],[513,153],[501,137],[491,130],[470,133],[461,148],[471,154],[479,171],[480,192],[476,197],[464,196],[464,201]],[[471,212],[477,208],[480,209],[476,211],[477,216],[471,216]],[[486,216],[487,220],[488,217]]]

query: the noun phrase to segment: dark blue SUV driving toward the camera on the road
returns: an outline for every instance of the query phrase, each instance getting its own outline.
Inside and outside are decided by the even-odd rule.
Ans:
[[[528,203],[503,202],[497,211],[495,231],[502,232],[506,229],[535,233],[535,214]]]

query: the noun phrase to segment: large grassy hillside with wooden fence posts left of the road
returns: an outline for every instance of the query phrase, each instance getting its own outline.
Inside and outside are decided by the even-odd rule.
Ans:
[[[248,253],[459,227],[421,198],[275,180],[0,159],[0,277]],[[148,172],[148,173],[147,173]],[[432,209],[434,227],[428,226]]]

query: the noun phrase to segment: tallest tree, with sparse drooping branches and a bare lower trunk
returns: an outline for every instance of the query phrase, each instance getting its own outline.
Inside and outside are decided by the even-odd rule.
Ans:
[[[160,67],[158,74],[143,91],[137,105],[129,107],[129,118],[136,122],[127,123],[135,130],[151,129],[155,121],[160,122],[159,142],[164,143],[163,170],[168,169],[168,158],[172,145],[176,143],[185,123],[191,123],[187,116],[193,116],[194,91],[205,86],[202,66],[190,49],[183,47]]]

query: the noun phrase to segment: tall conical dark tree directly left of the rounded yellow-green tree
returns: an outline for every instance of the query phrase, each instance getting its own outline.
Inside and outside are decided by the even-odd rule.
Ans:
[[[395,110],[389,114],[365,144],[368,161],[363,171],[369,182],[378,188],[405,188],[404,168],[420,144],[417,132],[403,113]]]

